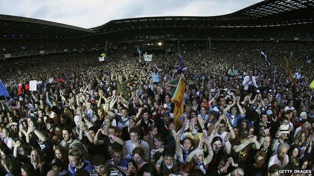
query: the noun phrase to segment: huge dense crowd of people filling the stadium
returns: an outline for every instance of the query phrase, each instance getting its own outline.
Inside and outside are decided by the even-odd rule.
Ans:
[[[176,55],[139,61],[131,49],[104,62],[77,52],[2,63],[11,97],[0,104],[0,175],[314,170],[311,45],[225,42],[213,43],[212,53],[189,46],[183,63]],[[184,113],[176,124],[171,98],[181,75]]]

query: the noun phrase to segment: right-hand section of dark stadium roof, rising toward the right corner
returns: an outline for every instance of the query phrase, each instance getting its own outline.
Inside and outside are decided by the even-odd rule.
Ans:
[[[314,0],[266,0],[240,11],[213,17],[146,17],[110,21],[95,28],[111,32],[144,28],[260,27],[312,22]]]

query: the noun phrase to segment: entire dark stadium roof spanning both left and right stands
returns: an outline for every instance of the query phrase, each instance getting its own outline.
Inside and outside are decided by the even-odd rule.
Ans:
[[[0,15],[3,37],[73,38],[95,33],[151,28],[264,27],[314,21],[314,0],[266,0],[240,11],[213,17],[143,17],[113,20],[84,29],[31,18]]]

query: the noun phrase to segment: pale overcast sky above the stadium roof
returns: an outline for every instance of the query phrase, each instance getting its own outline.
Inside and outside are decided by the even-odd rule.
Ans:
[[[156,16],[216,16],[261,0],[0,0],[0,14],[93,28],[111,20]]]

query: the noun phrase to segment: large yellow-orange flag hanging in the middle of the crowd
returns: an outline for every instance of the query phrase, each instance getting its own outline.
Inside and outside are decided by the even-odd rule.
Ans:
[[[174,109],[174,122],[175,124],[179,124],[179,116],[183,114],[183,98],[185,92],[185,83],[184,83],[184,75],[181,74],[180,80],[178,82],[176,91],[174,96],[171,98],[171,101],[175,103]]]

